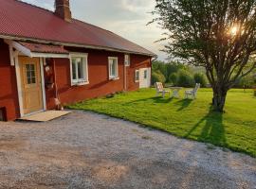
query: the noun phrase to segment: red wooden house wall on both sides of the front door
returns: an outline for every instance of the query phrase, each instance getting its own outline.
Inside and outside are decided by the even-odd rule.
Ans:
[[[84,86],[71,86],[70,62],[68,59],[51,59],[51,72],[54,74],[53,61],[55,61],[56,83],[58,94],[63,104],[70,104],[88,98],[124,91],[124,54],[101,50],[67,48],[72,52],[88,53],[89,84]],[[119,58],[119,79],[108,79],[108,57]],[[131,55],[131,65],[126,67],[127,90],[138,89],[135,82],[135,70],[142,67],[151,67],[151,59],[147,56]],[[47,74],[45,80],[54,81],[54,75]],[[54,89],[46,89],[47,109],[54,109]],[[0,41],[0,109],[7,110],[7,119],[14,120],[19,117],[19,103],[16,84],[15,67],[10,66],[9,46]]]

